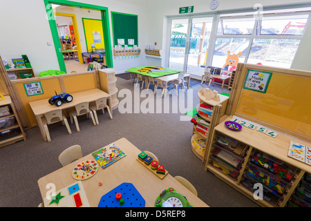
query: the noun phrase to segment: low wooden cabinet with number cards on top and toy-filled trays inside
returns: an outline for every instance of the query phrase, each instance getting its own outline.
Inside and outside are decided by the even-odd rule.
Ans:
[[[232,117],[228,117],[225,121],[230,119]],[[210,133],[211,142],[207,148],[205,170],[214,173],[261,206],[285,206],[305,172],[311,172],[311,166],[288,157],[291,140],[308,145],[308,142],[296,137],[283,133],[279,133],[276,137],[270,137],[256,131],[256,128],[251,129],[245,126],[241,131],[232,131],[224,123],[218,124]],[[222,137],[225,138],[222,139]],[[227,142],[222,140],[227,140]],[[230,142],[232,146],[241,144],[246,147],[244,154],[237,155],[222,145],[230,144]],[[218,156],[223,150],[229,150],[231,155],[222,153]],[[265,159],[261,159],[261,162],[257,163],[258,158],[263,155],[265,155],[263,157]],[[282,165],[280,169],[283,169],[285,175],[280,176],[279,173],[275,173],[276,170],[269,167],[270,160],[266,159],[272,159],[271,168]],[[241,164],[232,165],[230,163],[236,162],[236,160],[241,160]],[[256,183],[263,186],[263,200],[254,199],[253,191],[256,189],[253,189],[253,184]]]

